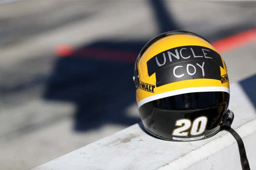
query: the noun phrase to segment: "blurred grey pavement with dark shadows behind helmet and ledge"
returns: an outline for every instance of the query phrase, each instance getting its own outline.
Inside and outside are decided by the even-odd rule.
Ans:
[[[133,63],[153,36],[181,29],[214,42],[256,27],[256,2],[4,2],[1,170],[33,168],[139,122]],[[230,83],[254,106],[255,47],[222,53]]]

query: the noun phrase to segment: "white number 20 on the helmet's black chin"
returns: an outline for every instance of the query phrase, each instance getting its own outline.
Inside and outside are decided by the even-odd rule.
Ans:
[[[199,135],[202,134],[207,125],[207,117],[201,116],[194,119],[192,123],[192,128],[190,130],[191,135]],[[184,132],[191,127],[191,120],[189,119],[179,119],[176,121],[175,126],[180,126],[175,128],[172,132],[173,136],[188,136],[189,132]]]

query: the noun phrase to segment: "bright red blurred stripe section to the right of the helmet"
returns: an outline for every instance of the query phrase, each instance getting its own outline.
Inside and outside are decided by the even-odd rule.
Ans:
[[[216,42],[213,42],[212,45],[217,49],[219,53],[224,53],[232,49],[241,47],[248,43],[251,43],[256,40],[256,28],[253,28],[248,31],[223,38]]]

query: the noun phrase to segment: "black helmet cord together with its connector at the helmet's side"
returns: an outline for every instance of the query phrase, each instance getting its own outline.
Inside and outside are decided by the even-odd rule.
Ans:
[[[222,128],[222,130],[226,130],[229,133],[231,133],[232,136],[234,136],[235,140],[237,140],[237,145],[238,145],[238,149],[239,149],[242,169],[243,170],[250,170],[249,162],[248,162],[248,159],[246,157],[246,152],[245,152],[243,140],[239,136],[239,134],[233,128],[231,128],[231,123],[232,123],[233,119],[234,119],[233,112],[230,111],[230,110],[227,110],[227,112],[226,112],[226,114],[223,118],[223,124],[222,124],[221,128]]]

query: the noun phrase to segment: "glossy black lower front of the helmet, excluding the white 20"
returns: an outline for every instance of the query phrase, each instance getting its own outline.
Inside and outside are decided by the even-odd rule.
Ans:
[[[200,136],[207,138],[218,132],[228,103],[229,94],[226,92],[187,93],[148,102],[139,111],[144,127],[155,136],[167,140],[173,139],[172,132],[177,128],[177,120],[189,119],[193,122],[197,117],[205,116],[208,122]]]

